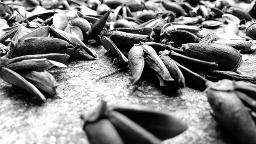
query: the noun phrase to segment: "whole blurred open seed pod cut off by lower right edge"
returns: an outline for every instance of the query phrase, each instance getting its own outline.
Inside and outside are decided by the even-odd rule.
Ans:
[[[239,143],[255,143],[256,126],[251,113],[255,110],[256,85],[227,79],[207,85],[208,102],[221,126]]]

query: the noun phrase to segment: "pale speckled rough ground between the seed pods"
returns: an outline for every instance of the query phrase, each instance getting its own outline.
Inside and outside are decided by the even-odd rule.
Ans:
[[[204,92],[185,88],[180,95],[163,95],[158,86],[146,78],[134,87],[130,71],[95,81],[100,76],[118,69],[102,47],[94,48],[96,61],[71,61],[67,68],[49,72],[63,88],[63,99],[48,98],[37,105],[31,95],[0,80],[0,143],[89,143],[82,130],[83,112],[98,106],[101,99],[110,104],[139,104],[174,114],[189,128],[164,143],[234,143],[210,114]],[[255,54],[246,54],[241,71],[253,75],[256,71]]]

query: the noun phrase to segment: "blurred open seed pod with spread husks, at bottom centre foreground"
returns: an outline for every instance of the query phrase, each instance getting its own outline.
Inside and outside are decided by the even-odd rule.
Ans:
[[[184,122],[169,114],[140,106],[108,106],[104,101],[91,113],[81,114],[81,118],[89,142],[98,144],[157,144],[187,129]]]

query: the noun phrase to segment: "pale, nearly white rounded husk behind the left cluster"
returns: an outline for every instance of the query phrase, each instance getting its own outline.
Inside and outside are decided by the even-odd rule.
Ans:
[[[55,27],[59,28],[60,30],[65,30],[68,25],[68,18],[65,14],[56,13],[53,15],[52,23]]]

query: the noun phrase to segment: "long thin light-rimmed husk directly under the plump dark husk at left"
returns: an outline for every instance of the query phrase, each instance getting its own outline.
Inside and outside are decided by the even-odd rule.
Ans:
[[[32,55],[23,55],[14,57],[8,61],[9,64],[20,62],[23,60],[31,60],[31,59],[47,59],[52,60],[60,63],[65,63],[69,59],[68,54],[63,53],[47,53],[47,54],[32,54]]]

